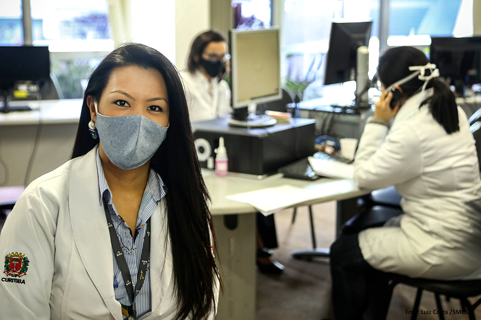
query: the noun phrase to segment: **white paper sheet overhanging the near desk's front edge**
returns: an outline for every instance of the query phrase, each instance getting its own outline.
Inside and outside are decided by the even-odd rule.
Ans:
[[[317,192],[289,184],[227,196],[227,198],[230,200],[250,204],[259,210],[260,213],[266,216],[276,211],[289,208],[298,203],[313,200],[318,197],[319,195]]]

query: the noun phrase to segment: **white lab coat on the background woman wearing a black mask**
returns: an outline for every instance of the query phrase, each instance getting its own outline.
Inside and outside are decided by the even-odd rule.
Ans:
[[[199,70],[181,71],[190,122],[212,120],[231,113],[231,90],[225,80],[208,80]]]

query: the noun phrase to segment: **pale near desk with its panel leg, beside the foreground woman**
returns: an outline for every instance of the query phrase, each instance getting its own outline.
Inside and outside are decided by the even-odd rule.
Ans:
[[[338,201],[337,223],[349,219],[356,212],[342,210],[353,198],[367,194],[352,181],[319,179],[314,182],[271,177],[255,180],[228,176],[216,177],[203,170],[204,181],[212,198],[213,215],[218,243],[217,263],[224,283],[224,294],[219,299],[217,319],[255,319],[255,208],[226,199],[226,196],[282,184],[315,190],[319,197],[299,205]],[[339,227],[338,227],[339,228]]]

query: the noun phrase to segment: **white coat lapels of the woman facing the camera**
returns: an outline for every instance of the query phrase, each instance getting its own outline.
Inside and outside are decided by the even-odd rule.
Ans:
[[[98,201],[99,185],[95,164],[97,148],[98,145],[86,155],[75,159],[72,164],[68,182],[68,209],[73,237],[82,263],[114,318],[122,320],[120,303],[115,299],[114,293],[114,265],[107,219],[104,208]],[[166,298],[167,291],[173,290],[173,268],[165,207],[165,200],[162,200],[151,217],[152,315],[163,314],[162,310],[166,310],[172,303],[171,299]],[[145,319],[149,318],[151,317]]]

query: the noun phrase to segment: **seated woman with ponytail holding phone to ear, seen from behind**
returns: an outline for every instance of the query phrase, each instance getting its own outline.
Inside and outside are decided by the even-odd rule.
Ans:
[[[379,59],[382,95],[362,133],[354,179],[372,190],[394,184],[404,214],[333,243],[337,320],[384,319],[385,273],[481,278],[478,155],[465,113],[438,75],[413,47],[389,49]]]

